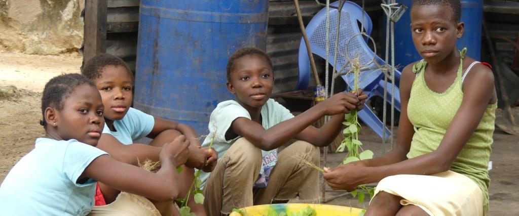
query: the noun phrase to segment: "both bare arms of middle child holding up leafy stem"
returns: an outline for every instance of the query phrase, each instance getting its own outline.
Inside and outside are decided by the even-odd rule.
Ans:
[[[340,131],[342,125],[340,122],[344,121],[344,113],[349,113],[349,110],[355,109],[358,103],[359,99],[357,96],[349,92],[341,92],[298,116],[280,122],[268,129],[247,118],[237,118],[231,124],[230,129],[236,135],[247,138],[253,145],[266,151],[284,145],[293,137],[308,141],[316,146],[324,146],[330,143],[335,138],[333,135],[337,135]],[[333,118],[333,121],[323,126],[324,128],[317,129],[310,126],[310,124],[325,115],[336,115],[336,117]]]

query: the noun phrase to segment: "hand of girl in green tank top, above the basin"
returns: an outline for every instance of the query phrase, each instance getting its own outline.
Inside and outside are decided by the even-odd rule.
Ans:
[[[335,169],[325,167],[323,177],[332,189],[351,192],[360,185],[358,180],[362,179],[363,173],[360,169],[362,167],[350,164],[339,165]]]

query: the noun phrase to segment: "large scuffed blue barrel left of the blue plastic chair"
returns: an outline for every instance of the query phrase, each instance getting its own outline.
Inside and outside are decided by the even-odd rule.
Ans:
[[[266,49],[268,0],[141,0],[133,105],[208,134],[229,56]]]

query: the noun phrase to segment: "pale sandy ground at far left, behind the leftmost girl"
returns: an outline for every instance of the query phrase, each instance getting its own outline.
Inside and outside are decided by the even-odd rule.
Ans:
[[[0,99],[0,181],[11,167],[45,135],[40,99],[52,77],[79,73],[80,55],[43,56],[0,53],[0,85],[15,85],[20,92]]]

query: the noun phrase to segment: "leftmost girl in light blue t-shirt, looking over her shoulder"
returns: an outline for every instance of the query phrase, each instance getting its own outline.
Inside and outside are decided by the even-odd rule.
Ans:
[[[189,140],[181,135],[163,145],[156,172],[122,163],[95,148],[104,127],[104,106],[95,84],[79,74],[52,78],[42,96],[46,136],[23,156],[0,186],[5,215],[86,215],[95,182],[167,201],[179,195],[176,167],[187,160]],[[175,212],[177,213],[177,212]]]

